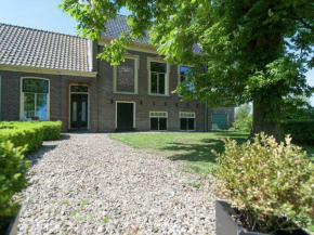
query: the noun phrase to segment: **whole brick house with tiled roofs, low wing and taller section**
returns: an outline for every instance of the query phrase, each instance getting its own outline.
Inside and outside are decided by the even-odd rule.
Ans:
[[[187,66],[165,62],[134,41],[126,62],[96,58],[129,30],[126,17],[108,21],[99,41],[0,24],[1,120],[62,120],[63,131],[208,131],[228,128],[234,108],[209,109],[173,94]],[[195,47],[196,52],[199,48]]]

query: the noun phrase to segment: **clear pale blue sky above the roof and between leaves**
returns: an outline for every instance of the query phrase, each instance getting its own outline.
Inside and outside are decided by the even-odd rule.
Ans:
[[[60,3],[61,0],[0,0],[0,23],[76,35],[76,21],[57,8]],[[123,9],[120,14],[129,12]],[[306,78],[314,86],[314,70]],[[314,105],[314,96],[311,103]]]

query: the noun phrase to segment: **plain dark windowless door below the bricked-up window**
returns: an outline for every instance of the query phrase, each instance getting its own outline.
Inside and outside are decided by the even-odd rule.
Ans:
[[[134,130],[134,103],[117,103],[117,131]]]

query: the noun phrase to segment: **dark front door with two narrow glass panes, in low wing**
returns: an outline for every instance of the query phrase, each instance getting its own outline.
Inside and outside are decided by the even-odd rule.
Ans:
[[[88,94],[70,94],[70,129],[88,129]]]

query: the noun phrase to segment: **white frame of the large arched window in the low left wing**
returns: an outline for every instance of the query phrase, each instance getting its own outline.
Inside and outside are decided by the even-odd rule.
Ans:
[[[19,100],[19,119],[21,120],[30,120],[30,118],[23,118],[24,114],[24,93],[37,93],[37,92],[23,92],[23,80],[24,79],[37,79],[37,80],[45,80],[48,81],[48,93],[47,94],[47,119],[40,119],[40,120],[50,120],[50,80],[47,78],[40,78],[40,77],[21,77],[19,81],[19,94],[21,94],[21,100]],[[38,93],[41,94],[41,93]]]

